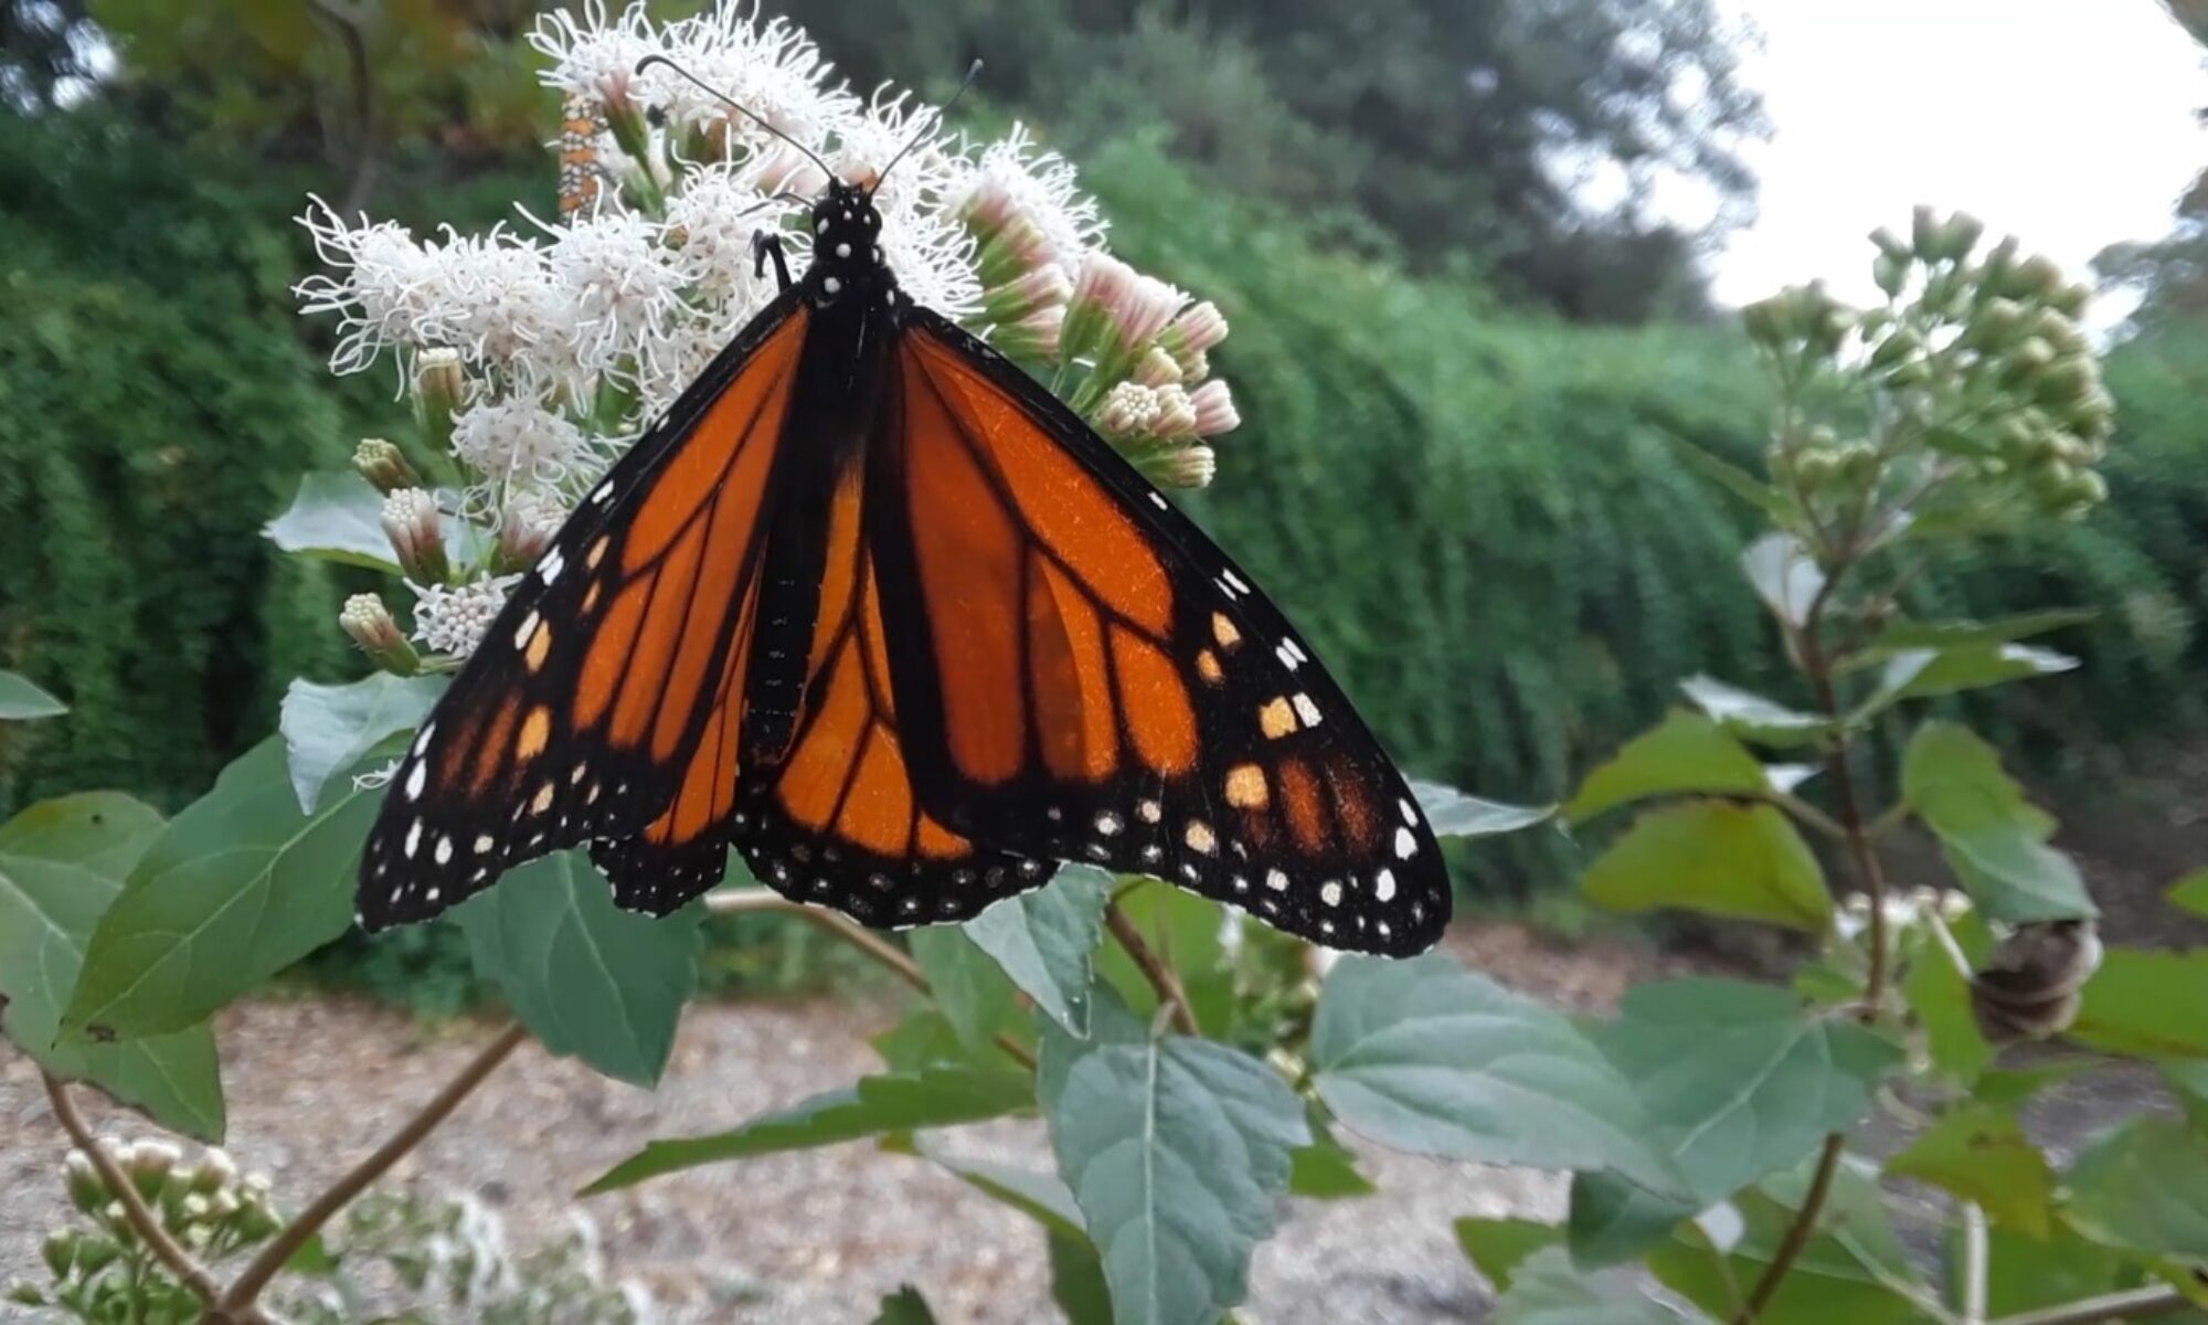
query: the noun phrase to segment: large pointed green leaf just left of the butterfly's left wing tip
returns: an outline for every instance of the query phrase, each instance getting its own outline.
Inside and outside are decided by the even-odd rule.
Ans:
[[[380,799],[347,786],[302,815],[278,738],[241,755],[99,916],[64,1029],[181,1031],[342,934]]]

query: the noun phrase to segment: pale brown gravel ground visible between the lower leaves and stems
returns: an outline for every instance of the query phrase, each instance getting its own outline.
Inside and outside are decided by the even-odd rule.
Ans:
[[[1453,936],[1471,965],[1572,1009],[1682,969],[1645,947],[1563,950],[1517,925]],[[649,1137],[731,1126],[877,1067],[866,1036],[894,1005],[837,1000],[693,1007],[658,1091],[609,1082],[523,1047],[395,1170],[397,1181],[479,1195],[526,1248],[567,1228],[570,1192]],[[219,1022],[232,1151],[294,1204],[367,1153],[450,1078],[492,1029],[422,1025],[351,998],[250,1000]],[[84,1095],[95,1126],[146,1124]],[[2053,1131],[2137,1106],[2115,1091]],[[943,1133],[945,1148],[1049,1166],[1038,1122]],[[0,1058],[0,1281],[42,1279],[38,1241],[62,1212],[60,1131],[38,1075]],[[1486,1316],[1488,1292],[1451,1234],[1459,1215],[1557,1219],[1554,1175],[1442,1164],[1358,1146],[1380,1186],[1356,1201],[1292,1199],[1256,1254],[1248,1325],[1442,1325]],[[393,1181],[393,1179],[386,1179]],[[863,1144],[669,1175],[594,1197],[614,1276],[669,1321],[866,1323],[881,1294],[921,1285],[945,1323],[1031,1323],[1049,1305],[1040,1230],[927,1162]]]

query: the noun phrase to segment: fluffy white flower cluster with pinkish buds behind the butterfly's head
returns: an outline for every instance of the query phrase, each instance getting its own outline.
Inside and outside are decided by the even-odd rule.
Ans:
[[[464,473],[459,492],[415,492],[384,519],[431,651],[473,649],[574,499],[773,298],[753,236],[777,234],[804,269],[806,199],[828,183],[815,157],[879,183],[883,256],[914,300],[1055,371],[1159,481],[1208,481],[1195,442],[1236,422],[1225,384],[1201,380],[1225,322],[1111,258],[1073,166],[1025,128],[978,144],[910,93],[859,97],[804,31],[742,4],[660,24],[643,0],[587,0],[543,15],[532,44],[570,99],[559,221],[523,210],[486,234],[417,236],[318,199],[300,219],[329,267],[298,298],[338,318],[331,369],[393,356],[428,444]],[[647,55],[696,82],[662,62],[638,71]],[[1111,426],[1135,415],[1137,431]],[[386,492],[415,486],[378,446],[362,473]],[[473,539],[490,550],[479,565],[433,545],[437,506],[488,532]],[[420,665],[389,614],[349,612],[378,665]]]

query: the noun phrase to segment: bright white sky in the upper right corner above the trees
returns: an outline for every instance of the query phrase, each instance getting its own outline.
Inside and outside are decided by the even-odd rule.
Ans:
[[[2208,166],[2204,49],[2159,0],[1720,0],[1762,29],[1744,75],[1753,225],[1709,258],[1720,303],[1824,276],[1870,303],[1870,234],[1970,210],[2087,278],[2109,243],[2168,232]],[[2095,322],[2122,316],[2102,311]]]

